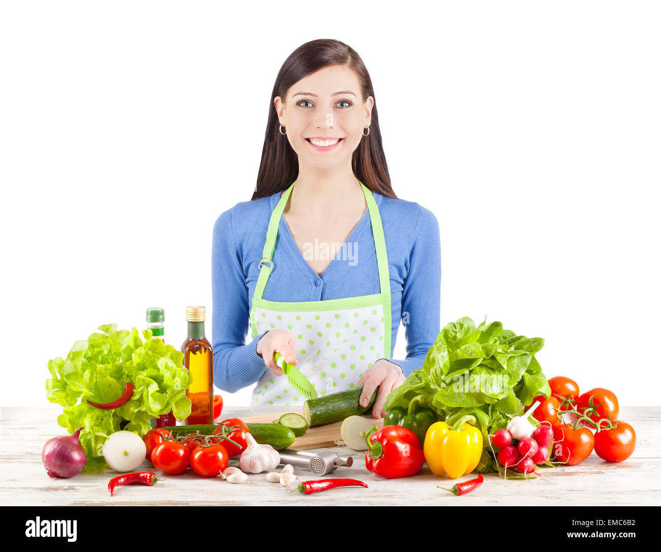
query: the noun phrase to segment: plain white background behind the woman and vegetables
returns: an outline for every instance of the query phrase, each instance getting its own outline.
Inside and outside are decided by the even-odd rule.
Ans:
[[[1,3],[0,404],[48,404],[48,359],[102,323],[144,327],[148,306],[182,342],[186,305],[211,307],[214,221],[253,192],[280,65],[337,38],[371,74],[395,192],[438,217],[442,325],[500,320],[545,338],[548,377],[658,405],[660,15]]]

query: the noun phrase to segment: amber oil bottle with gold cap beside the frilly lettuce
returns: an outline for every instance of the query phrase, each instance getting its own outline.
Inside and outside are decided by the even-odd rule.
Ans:
[[[214,423],[214,360],[212,346],[204,336],[205,308],[186,307],[188,338],[182,344],[184,368],[190,370],[192,382],[186,395],[190,399],[188,425]]]

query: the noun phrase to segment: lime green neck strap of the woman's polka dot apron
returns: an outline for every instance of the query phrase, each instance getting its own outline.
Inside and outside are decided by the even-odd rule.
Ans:
[[[280,217],[285,210],[287,201],[292,194],[292,188],[295,184],[295,180],[292,185],[287,188],[280,201],[276,205],[276,208],[271,214],[271,218],[268,221],[268,230],[266,231],[266,242],[264,243],[264,251],[262,251],[262,260],[260,261],[260,272],[259,277],[257,278],[257,284],[254,288],[253,298],[262,299],[264,295],[264,289],[266,288],[266,282],[268,282],[268,277],[273,271],[273,252],[276,248],[276,238],[278,237],[278,227],[280,226]],[[381,288],[381,293],[386,294],[390,297],[390,272],[388,269],[388,255],[385,249],[385,236],[383,235],[383,223],[381,222],[381,214],[379,214],[379,208],[376,205],[374,196],[371,194],[367,186],[360,182],[362,186],[363,193],[365,194],[365,200],[368,204],[369,218],[371,219],[372,233],[374,235],[374,246],[376,249],[376,261],[377,266],[379,267],[379,286]],[[387,314],[390,313],[390,309],[387,309]],[[388,324],[387,327],[390,325]]]

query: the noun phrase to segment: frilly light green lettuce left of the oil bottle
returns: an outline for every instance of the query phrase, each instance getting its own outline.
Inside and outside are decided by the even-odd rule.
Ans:
[[[48,361],[48,400],[64,407],[58,423],[69,433],[83,427],[80,441],[87,452],[85,471],[104,467],[102,445],[120,429],[143,436],[154,416],[173,411],[184,420],[190,414],[186,389],[191,375],[182,368],[184,355],[151,330],[118,330],[116,324],[98,327],[100,333],[76,341],[67,358]],[[132,398],[117,409],[102,410],[87,403],[110,403],[134,385]]]

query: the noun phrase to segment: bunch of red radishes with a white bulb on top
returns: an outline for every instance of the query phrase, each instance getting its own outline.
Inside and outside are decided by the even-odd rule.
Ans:
[[[531,408],[524,416],[512,418],[507,429],[499,429],[490,435],[491,443],[500,449],[496,458],[506,470],[509,467],[525,475],[533,473],[537,465],[549,461],[553,428],[551,424],[533,426],[529,420],[533,411]]]

